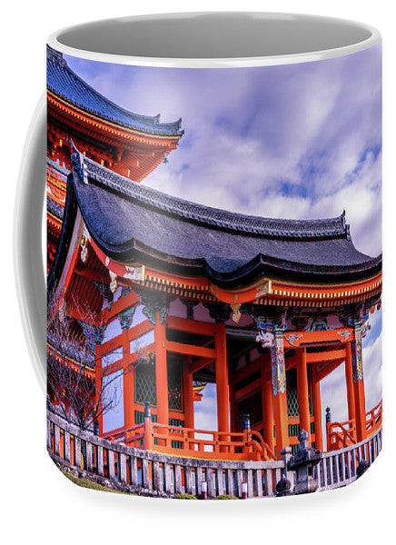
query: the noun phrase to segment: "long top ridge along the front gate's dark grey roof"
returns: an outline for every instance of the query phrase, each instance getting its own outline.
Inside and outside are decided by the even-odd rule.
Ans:
[[[73,148],[72,163],[74,170],[79,173],[84,183],[89,183],[88,178],[91,178],[96,183],[121,193],[124,197],[132,198],[166,213],[182,216],[196,223],[206,223],[231,231],[283,238],[312,239],[341,236],[348,238],[349,236],[349,225],[345,223],[344,212],[334,218],[314,220],[288,220],[233,213],[186,201],[141,183],[136,183],[95,163],[92,159],[88,159],[78,152],[74,144]]]

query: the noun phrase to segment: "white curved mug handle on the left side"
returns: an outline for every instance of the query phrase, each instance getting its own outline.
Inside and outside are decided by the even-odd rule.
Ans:
[[[14,213],[14,271],[19,311],[36,377],[46,384],[45,269],[43,204],[45,198],[45,93],[35,107],[19,169]]]

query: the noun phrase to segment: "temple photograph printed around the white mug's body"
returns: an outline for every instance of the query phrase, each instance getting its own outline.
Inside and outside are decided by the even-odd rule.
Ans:
[[[267,498],[379,455],[381,41],[351,43],[47,46],[47,449],[72,480]]]

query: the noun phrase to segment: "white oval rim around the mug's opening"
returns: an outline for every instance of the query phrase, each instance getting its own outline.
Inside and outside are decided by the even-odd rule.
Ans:
[[[91,51],[74,47],[71,45],[65,45],[60,41],[62,35],[78,31],[84,32],[89,26],[93,25],[114,25],[117,22],[132,21],[139,23],[139,21],[161,21],[169,19],[180,18],[193,18],[199,16],[220,16],[220,15],[249,15],[249,16],[261,16],[268,19],[285,19],[290,18],[292,21],[318,21],[332,23],[333,25],[351,25],[351,28],[360,29],[362,32],[370,33],[367,38],[356,41],[351,45],[335,46],[329,49],[308,51],[303,53],[288,53],[288,54],[270,54],[270,55],[258,55],[258,56],[239,56],[239,57],[173,57],[173,56],[138,56],[132,54],[114,54],[114,53],[101,53],[98,51]],[[349,19],[343,19],[339,17],[330,17],[324,15],[305,15],[305,14],[292,14],[282,12],[250,12],[250,11],[206,11],[206,12],[180,12],[170,14],[153,14],[153,15],[133,15],[129,17],[112,17],[106,19],[98,19],[89,21],[78,25],[70,25],[61,28],[51,34],[47,40],[47,44],[63,54],[69,54],[75,57],[84,58],[86,60],[107,62],[113,64],[131,64],[137,66],[158,66],[158,67],[173,67],[173,68],[227,68],[227,67],[253,67],[253,66],[271,66],[278,64],[298,64],[306,63],[323,59],[330,59],[333,57],[344,56],[348,54],[357,53],[364,49],[378,44],[381,42],[381,33],[373,26],[366,25],[364,23],[352,21]]]

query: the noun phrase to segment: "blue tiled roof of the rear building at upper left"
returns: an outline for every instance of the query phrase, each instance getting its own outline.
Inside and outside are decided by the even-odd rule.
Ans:
[[[81,108],[106,121],[146,134],[181,136],[182,119],[173,123],[160,123],[160,114],[140,115],[124,110],[103,94],[86,84],[73,72],[62,53],[47,45],[47,88],[69,104]]]

